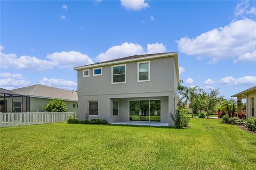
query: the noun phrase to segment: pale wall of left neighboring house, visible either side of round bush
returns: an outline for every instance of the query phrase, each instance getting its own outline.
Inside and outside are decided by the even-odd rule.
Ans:
[[[49,103],[51,99],[45,98],[36,98],[30,97],[30,112],[45,112],[43,106]],[[76,101],[66,101],[63,100],[64,103],[67,104],[67,108],[69,112],[77,112],[77,102]],[[75,104],[75,108],[73,108],[73,104]]]

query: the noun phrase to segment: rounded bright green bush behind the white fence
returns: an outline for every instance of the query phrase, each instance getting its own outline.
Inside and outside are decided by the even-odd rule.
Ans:
[[[68,112],[66,104],[60,99],[52,99],[43,107],[46,112]]]

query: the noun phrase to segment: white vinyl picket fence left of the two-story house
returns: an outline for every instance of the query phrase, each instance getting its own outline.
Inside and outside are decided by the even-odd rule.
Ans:
[[[66,122],[69,116],[75,117],[76,112],[0,112],[0,127]]]

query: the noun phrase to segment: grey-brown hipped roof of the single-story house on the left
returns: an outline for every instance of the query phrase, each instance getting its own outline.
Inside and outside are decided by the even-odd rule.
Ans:
[[[37,98],[58,98],[62,100],[77,101],[77,92],[44,86],[42,84],[35,84],[33,86],[22,87],[13,89],[12,91],[18,92],[22,95]]]

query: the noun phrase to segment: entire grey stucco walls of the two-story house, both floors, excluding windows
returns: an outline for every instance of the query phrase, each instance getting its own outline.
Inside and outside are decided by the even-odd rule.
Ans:
[[[148,61],[148,60],[145,60]],[[141,62],[141,61],[140,61]],[[129,121],[130,99],[161,99],[161,122],[173,125],[169,113],[177,107],[178,89],[174,57],[150,60],[150,81],[138,82],[138,62],[126,63],[126,83],[111,84],[111,65],[102,67],[102,75],[83,77],[83,70],[77,71],[78,112],[80,120],[88,114],[88,101],[98,100],[98,115],[109,123]],[[113,116],[113,100],[119,101],[119,114]]]

